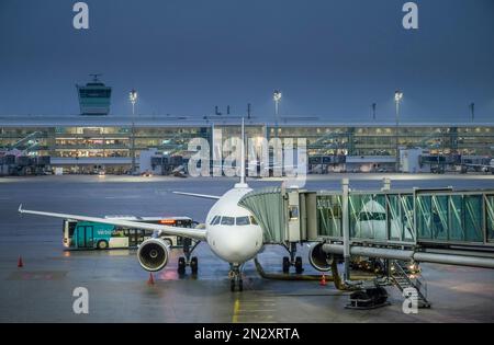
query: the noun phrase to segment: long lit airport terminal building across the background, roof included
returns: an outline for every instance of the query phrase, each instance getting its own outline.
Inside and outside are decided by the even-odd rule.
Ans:
[[[239,137],[240,117],[7,115],[0,116],[0,151],[49,156],[52,166],[68,172],[103,165],[109,172],[125,173],[134,151],[137,163],[139,154],[149,149],[164,157],[190,157],[191,138],[212,142],[218,130],[223,140]],[[249,118],[246,135],[267,140],[306,138],[308,168],[322,173],[394,171],[398,151],[406,156],[408,149],[419,149],[420,166],[460,160],[486,163],[494,152],[494,123],[341,124],[284,117],[276,124]]]

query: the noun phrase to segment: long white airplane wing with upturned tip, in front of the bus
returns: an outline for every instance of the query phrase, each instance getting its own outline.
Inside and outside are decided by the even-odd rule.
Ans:
[[[179,227],[170,227],[170,226],[164,226],[164,225],[150,225],[150,223],[139,222],[139,221],[123,220],[123,219],[109,219],[109,218],[99,218],[99,217],[68,215],[68,214],[44,212],[44,211],[23,209],[22,204],[19,206],[19,212],[37,215],[37,216],[55,217],[55,218],[64,218],[64,219],[74,219],[74,220],[80,220],[80,221],[101,222],[101,223],[105,223],[105,225],[113,225],[113,226],[120,226],[120,227],[125,227],[125,228],[154,230],[154,231],[158,231],[158,234],[166,233],[166,234],[171,234],[171,235],[181,235],[181,237],[186,237],[186,238],[190,238],[190,239],[199,240],[199,241],[206,240],[206,230],[205,229],[179,228]]]

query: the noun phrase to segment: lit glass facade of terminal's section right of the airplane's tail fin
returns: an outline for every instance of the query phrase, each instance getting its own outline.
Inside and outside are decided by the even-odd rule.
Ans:
[[[306,137],[313,156],[396,156],[396,146],[424,148],[433,154],[492,154],[494,127],[371,126],[279,127],[268,126],[269,137]],[[397,145],[396,145],[397,133]]]

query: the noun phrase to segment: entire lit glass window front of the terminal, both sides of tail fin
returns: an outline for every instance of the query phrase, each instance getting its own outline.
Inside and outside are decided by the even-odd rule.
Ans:
[[[187,150],[189,139],[212,140],[213,129],[221,130],[223,140],[240,135],[238,125],[156,125],[135,127],[135,149],[157,148],[176,153]],[[249,138],[268,140],[274,137],[306,138],[310,160],[345,162],[345,157],[396,157],[396,141],[402,148],[423,148],[430,154],[492,157],[494,126],[306,126],[249,124]],[[295,140],[296,145],[296,140]],[[132,127],[109,126],[9,126],[0,119],[0,150],[18,148],[55,158],[122,158],[130,157]]]

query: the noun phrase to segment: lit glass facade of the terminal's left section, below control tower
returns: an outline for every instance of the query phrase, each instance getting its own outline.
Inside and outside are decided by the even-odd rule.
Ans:
[[[191,138],[211,138],[210,127],[136,127],[135,150],[187,151]],[[53,158],[130,158],[132,127],[0,127],[0,150],[26,150]]]

